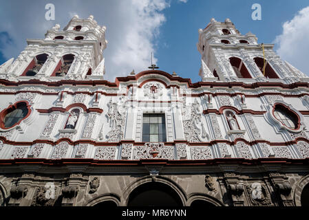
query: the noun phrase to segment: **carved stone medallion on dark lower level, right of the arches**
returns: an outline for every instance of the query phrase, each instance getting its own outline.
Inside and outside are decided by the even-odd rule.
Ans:
[[[270,193],[264,184],[255,182],[246,186],[249,198],[253,206],[270,206],[272,204]]]

